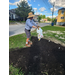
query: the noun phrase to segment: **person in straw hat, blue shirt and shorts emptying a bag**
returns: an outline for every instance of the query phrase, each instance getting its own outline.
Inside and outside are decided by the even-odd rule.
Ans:
[[[33,15],[32,12],[28,13],[28,17],[27,17],[26,24],[25,24],[25,33],[26,33],[26,36],[27,36],[27,39],[26,39],[26,46],[27,47],[30,47],[32,45],[32,42],[30,41],[31,28],[37,29],[37,27],[38,27],[38,25],[33,21],[34,16],[35,15]]]

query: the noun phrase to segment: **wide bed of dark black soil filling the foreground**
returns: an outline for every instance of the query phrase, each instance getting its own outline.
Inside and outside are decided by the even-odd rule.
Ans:
[[[65,47],[37,37],[31,40],[30,48],[9,52],[9,63],[21,68],[24,75],[65,75]]]

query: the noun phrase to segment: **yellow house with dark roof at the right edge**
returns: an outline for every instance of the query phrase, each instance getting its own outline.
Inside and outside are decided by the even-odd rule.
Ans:
[[[61,8],[58,10],[56,25],[65,25],[65,8]]]

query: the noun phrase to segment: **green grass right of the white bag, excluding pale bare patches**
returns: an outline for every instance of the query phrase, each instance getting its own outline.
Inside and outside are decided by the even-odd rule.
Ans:
[[[60,40],[61,42],[64,43],[65,41],[65,28],[64,27],[57,27],[57,26],[46,26],[46,27],[42,27],[43,31],[46,32],[47,30],[50,31],[60,31],[60,33],[63,34],[57,34],[57,33],[52,33],[52,32],[47,32],[46,34],[44,34],[47,37],[54,37],[57,40]],[[58,37],[56,37],[55,35],[58,35]],[[64,39],[60,39],[59,37],[63,37]]]

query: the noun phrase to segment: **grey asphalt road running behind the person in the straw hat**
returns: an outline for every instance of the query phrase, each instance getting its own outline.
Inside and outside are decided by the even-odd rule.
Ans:
[[[39,23],[38,26],[43,27],[50,25],[50,23]],[[9,37],[14,36],[17,34],[25,33],[25,24],[23,25],[9,25]],[[35,28],[32,28],[31,31],[35,30]]]

